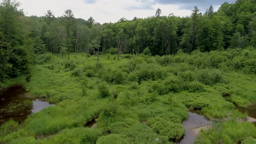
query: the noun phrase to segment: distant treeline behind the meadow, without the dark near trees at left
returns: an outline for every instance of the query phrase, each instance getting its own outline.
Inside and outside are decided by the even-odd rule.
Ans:
[[[117,23],[95,23],[75,19],[69,10],[55,18],[52,11],[43,17],[31,16],[33,35],[40,37],[46,49],[53,53],[82,52],[95,50],[108,53],[143,53],[151,55],[175,54],[179,49],[201,52],[227,48],[256,46],[256,1],[237,0],[223,3],[217,12],[210,6],[206,12],[194,7],[190,16],[177,17],[173,14],[145,19],[121,18]]]

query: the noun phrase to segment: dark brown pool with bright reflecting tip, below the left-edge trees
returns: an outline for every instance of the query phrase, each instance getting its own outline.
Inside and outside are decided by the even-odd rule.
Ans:
[[[30,98],[26,95],[26,89],[16,85],[0,91],[0,124],[12,118],[22,122],[27,116],[41,111],[50,105],[48,101]]]

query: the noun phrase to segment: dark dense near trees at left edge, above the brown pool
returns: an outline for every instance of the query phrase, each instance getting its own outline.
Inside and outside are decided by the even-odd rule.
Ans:
[[[0,82],[8,77],[25,75],[29,70],[30,46],[27,44],[26,47],[25,43],[31,39],[19,6],[16,0],[0,3]]]

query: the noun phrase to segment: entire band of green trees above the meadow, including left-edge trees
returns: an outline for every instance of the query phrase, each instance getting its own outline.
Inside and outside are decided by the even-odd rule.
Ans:
[[[255,0],[225,2],[217,12],[212,6],[203,13],[194,7],[187,17],[161,16],[158,9],[155,16],[145,19],[121,18],[102,25],[92,17],[76,19],[72,10],[61,17],[51,10],[42,17],[28,17],[19,6],[15,0],[0,3],[0,82],[27,74],[33,55],[45,52],[69,59],[70,52],[163,56],[178,50],[190,53],[256,46]]]

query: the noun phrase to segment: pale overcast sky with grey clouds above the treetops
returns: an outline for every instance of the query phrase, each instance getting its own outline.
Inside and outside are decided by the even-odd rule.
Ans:
[[[1,1],[1,0],[0,0]],[[215,10],[225,0],[18,0],[27,16],[43,16],[52,10],[56,17],[71,9],[76,18],[87,20],[92,16],[96,22],[117,22],[121,17],[132,20],[135,16],[153,16],[158,8],[163,15],[189,16],[195,5],[204,13],[213,5]],[[234,3],[235,0],[226,0]]]

